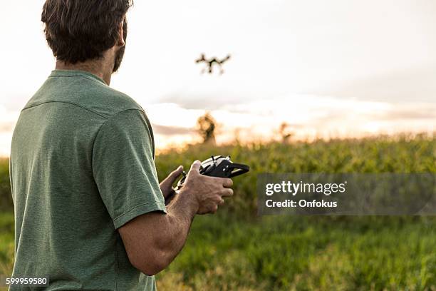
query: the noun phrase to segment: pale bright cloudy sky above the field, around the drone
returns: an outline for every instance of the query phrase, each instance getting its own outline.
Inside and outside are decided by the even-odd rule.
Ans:
[[[55,60],[43,1],[1,4],[0,155],[19,111]],[[436,1],[135,1],[123,64],[110,86],[145,108],[157,148],[199,140],[264,141],[283,122],[296,138],[434,132]],[[202,74],[200,53],[232,58]]]

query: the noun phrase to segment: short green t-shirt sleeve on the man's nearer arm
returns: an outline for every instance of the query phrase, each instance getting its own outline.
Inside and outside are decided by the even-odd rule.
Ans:
[[[115,228],[144,213],[166,213],[146,118],[139,110],[122,111],[95,137],[94,180]]]

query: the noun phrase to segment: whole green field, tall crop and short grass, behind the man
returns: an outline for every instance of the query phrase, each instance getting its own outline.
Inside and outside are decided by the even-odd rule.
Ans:
[[[255,194],[262,172],[436,173],[435,136],[193,146],[158,155],[160,178],[212,154],[251,172],[234,179],[235,195],[217,215],[195,218],[185,248],[157,275],[159,290],[436,290],[436,217],[258,217]],[[0,273],[8,273],[13,218],[1,211]]]

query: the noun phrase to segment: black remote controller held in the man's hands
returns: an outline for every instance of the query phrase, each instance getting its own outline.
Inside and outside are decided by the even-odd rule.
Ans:
[[[207,160],[203,160],[199,168],[199,173],[202,175],[220,177],[220,178],[233,178],[237,175],[242,175],[250,170],[248,165],[233,163],[230,160],[230,156],[227,155],[215,155],[211,156]],[[186,173],[183,172],[183,177],[177,183],[176,190],[182,188],[183,182],[185,182]]]

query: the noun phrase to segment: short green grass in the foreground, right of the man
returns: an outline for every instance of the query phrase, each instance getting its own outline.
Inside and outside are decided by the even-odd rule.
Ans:
[[[434,218],[195,218],[164,290],[435,289]]]

